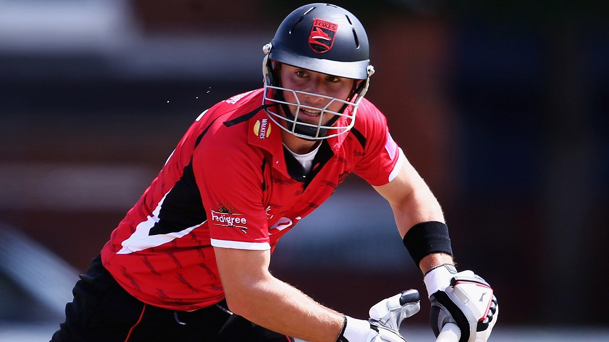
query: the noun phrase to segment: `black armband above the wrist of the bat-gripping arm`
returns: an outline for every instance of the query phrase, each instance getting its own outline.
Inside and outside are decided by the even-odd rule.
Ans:
[[[410,228],[404,236],[404,246],[418,268],[421,259],[429,254],[444,253],[452,256],[448,226],[442,222],[423,222]]]

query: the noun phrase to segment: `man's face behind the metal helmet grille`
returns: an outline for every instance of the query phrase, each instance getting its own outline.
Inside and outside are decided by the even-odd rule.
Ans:
[[[310,71],[295,66],[281,65],[281,86],[283,88],[312,92],[314,94],[336,97],[340,100],[347,100],[347,97],[351,94],[351,89],[353,89],[354,81],[355,80],[353,79],[322,74],[321,72]],[[324,97],[298,93],[297,95],[301,105],[323,108],[330,102],[330,99]],[[286,102],[297,103],[297,100],[294,98],[294,93],[291,91],[284,90],[283,97]],[[295,116],[297,107],[294,105],[287,106],[292,112],[292,116]],[[340,111],[342,106],[343,103],[334,101],[327,109],[331,111]],[[301,107],[300,113],[298,113],[298,121],[317,124],[319,122],[320,114],[321,111],[319,110],[316,111]],[[322,125],[328,124],[333,117],[333,114],[324,113]]]

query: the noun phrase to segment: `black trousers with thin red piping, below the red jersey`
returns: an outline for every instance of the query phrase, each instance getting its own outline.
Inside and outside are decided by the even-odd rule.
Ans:
[[[294,342],[231,315],[225,301],[191,312],[144,304],[114,280],[100,256],[80,274],[72,293],[66,320],[51,342]]]

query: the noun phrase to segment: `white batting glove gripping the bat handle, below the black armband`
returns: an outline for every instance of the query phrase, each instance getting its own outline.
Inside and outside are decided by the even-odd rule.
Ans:
[[[432,268],[424,282],[431,301],[430,323],[437,337],[446,323],[461,330],[459,342],[486,342],[497,322],[493,289],[473,271],[457,273],[448,263]]]

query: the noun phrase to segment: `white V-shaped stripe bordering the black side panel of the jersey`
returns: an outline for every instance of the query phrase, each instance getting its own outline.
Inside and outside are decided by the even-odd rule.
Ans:
[[[171,190],[167,191],[167,194],[169,194],[169,192],[171,192]],[[163,206],[163,201],[167,197],[167,194],[165,194],[163,198],[161,198],[161,200],[158,202],[157,208],[155,208],[152,212],[152,216],[148,216],[146,221],[140,222],[138,226],[136,226],[133,234],[131,234],[128,239],[125,239],[121,243],[122,248],[116,254],[130,254],[136,251],[146,250],[147,248],[163,245],[163,243],[171,242],[174,239],[180,239],[180,237],[183,237],[189,232],[191,232],[192,229],[195,229],[203,223],[207,222],[207,220],[205,220],[204,222],[199,223],[199,225],[186,228],[183,231],[150,236],[150,229],[152,229],[155,223],[159,221],[158,214],[161,212],[161,206]]]

